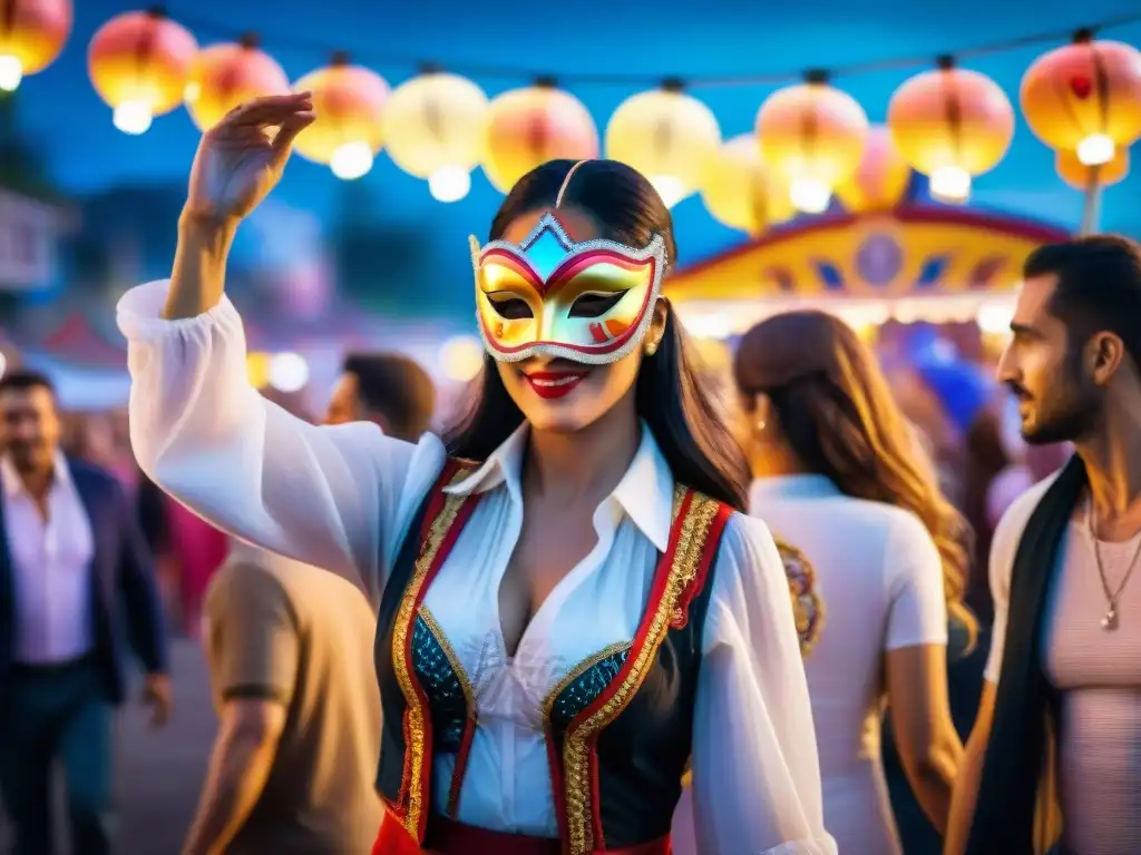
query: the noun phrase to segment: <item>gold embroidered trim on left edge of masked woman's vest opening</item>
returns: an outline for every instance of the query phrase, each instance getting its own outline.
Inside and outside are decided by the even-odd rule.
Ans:
[[[470,470],[460,469],[453,475],[451,483],[458,483],[470,473]],[[423,586],[428,571],[431,570],[439,554],[439,547],[447,537],[452,523],[460,512],[460,507],[468,499],[468,496],[445,495],[444,507],[431,522],[428,537],[420,547],[420,555],[416,557],[415,568],[412,572],[412,580],[404,591],[404,598],[400,600],[400,608],[396,613],[396,624],[393,628],[393,670],[396,671],[396,682],[404,693],[405,716],[408,725],[407,738],[404,746],[405,768],[408,769],[408,779],[404,782],[408,793],[407,811],[403,816],[404,828],[416,840],[420,839],[420,817],[423,815],[422,783],[424,774],[424,708],[420,703],[420,695],[413,684],[413,675],[408,668],[407,642],[408,633],[412,629],[412,620],[416,600],[420,596],[420,588]],[[431,762],[431,758],[428,758]]]

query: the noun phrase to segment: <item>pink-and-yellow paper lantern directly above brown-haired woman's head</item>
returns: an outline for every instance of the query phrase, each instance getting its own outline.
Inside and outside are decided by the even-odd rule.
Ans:
[[[756,114],[761,156],[806,213],[826,211],[836,186],[859,169],[867,127],[864,108],[820,73],[774,92]]]

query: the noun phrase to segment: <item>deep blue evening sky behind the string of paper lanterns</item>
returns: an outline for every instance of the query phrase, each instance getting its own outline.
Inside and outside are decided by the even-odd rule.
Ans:
[[[123,184],[184,180],[197,132],[185,111],[157,119],[149,132],[128,137],[111,123],[110,109],[92,91],[86,70],[87,43],[111,16],[138,8],[114,0],[75,0],[75,27],[63,56],[19,91],[21,128],[47,153],[54,178],[76,194]],[[435,60],[466,73],[494,64],[518,68],[513,75],[471,74],[489,96],[528,82],[533,73],[560,75],[594,115],[601,131],[615,106],[655,79],[671,75],[795,75],[828,67],[893,57],[934,57],[980,43],[1042,31],[1068,30],[1139,10],[1139,0],[956,0],[954,3],[890,0],[657,0],[617,3],[422,2],[365,3],[362,0],[171,0],[171,17],[187,24],[203,44],[243,31],[261,34],[292,79],[326,63],[334,48],[378,71],[391,84],[414,74],[418,62]],[[494,11],[493,11],[494,10]],[[511,10],[511,11],[508,11]],[[1104,33],[1141,44],[1141,24]],[[1017,104],[1019,80],[1044,47],[964,60],[989,74]],[[919,68],[914,70],[917,71]],[[888,100],[914,71],[899,70],[839,78],[882,121]],[[645,74],[645,87],[577,83],[575,73]],[[752,128],[756,109],[774,85],[695,90],[721,122],[726,138]],[[1134,150],[1136,156],[1136,150]],[[430,225],[445,254],[445,269],[467,269],[466,236],[486,233],[497,204],[482,172],[471,194],[443,205],[427,186],[402,173],[385,156],[363,179],[377,215]],[[330,221],[339,181],[324,168],[294,158],[277,201]],[[1054,174],[1053,153],[1019,119],[1014,144],[1003,163],[976,184],[980,206],[1026,213],[1076,226],[1079,194]],[[699,198],[675,207],[681,261],[694,261],[742,239],[718,226]],[[1103,227],[1141,237],[1141,164],[1133,177],[1107,190]],[[458,291],[458,293],[462,293]]]

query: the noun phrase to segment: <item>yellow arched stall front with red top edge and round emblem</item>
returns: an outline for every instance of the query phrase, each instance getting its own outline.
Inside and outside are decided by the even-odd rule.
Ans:
[[[1066,230],[1020,218],[906,201],[777,226],[679,270],[666,293],[699,337],[730,339],[768,315],[819,308],[865,336],[887,321],[1010,323],[1022,261]]]

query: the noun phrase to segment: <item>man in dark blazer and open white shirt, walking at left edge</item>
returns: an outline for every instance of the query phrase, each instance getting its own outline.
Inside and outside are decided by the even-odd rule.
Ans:
[[[113,475],[60,454],[59,433],[47,377],[0,377],[0,791],[14,855],[54,852],[56,762],[73,850],[111,852],[112,710],[128,646],[155,724],[170,711],[162,611],[132,507]]]

